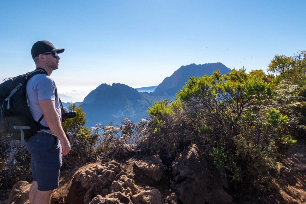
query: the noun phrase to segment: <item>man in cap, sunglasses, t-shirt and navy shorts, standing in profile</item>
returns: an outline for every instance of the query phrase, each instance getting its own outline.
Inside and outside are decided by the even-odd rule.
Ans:
[[[62,114],[57,89],[50,77],[58,69],[59,53],[46,40],[34,43],[31,49],[36,74],[27,83],[28,104],[39,131],[25,140],[31,154],[33,182],[29,192],[31,203],[50,203],[52,191],[58,188],[62,155],[70,151],[70,143],[62,128]],[[44,74],[43,74],[44,73]]]

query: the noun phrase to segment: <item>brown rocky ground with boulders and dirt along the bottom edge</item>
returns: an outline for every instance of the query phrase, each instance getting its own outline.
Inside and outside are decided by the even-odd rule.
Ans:
[[[277,169],[271,191],[233,199],[225,172],[209,168],[192,145],[176,157],[171,168],[153,155],[62,171],[51,203],[306,203],[306,144],[293,146]],[[19,181],[2,203],[29,203],[30,185]]]

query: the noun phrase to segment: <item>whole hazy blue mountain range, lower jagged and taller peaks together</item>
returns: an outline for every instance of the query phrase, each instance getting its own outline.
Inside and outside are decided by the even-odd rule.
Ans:
[[[87,126],[92,127],[99,122],[102,122],[103,125],[107,125],[110,122],[113,122],[114,125],[119,125],[124,118],[139,122],[142,118],[149,117],[147,110],[154,103],[154,100],[175,100],[175,93],[185,85],[185,81],[190,76],[210,75],[213,74],[214,70],[220,70],[221,74],[231,71],[230,68],[220,62],[181,66],[170,77],[166,77],[151,93],[140,92],[120,83],[113,83],[112,85],[101,84],[92,90],[81,104],[83,111],[86,113]]]

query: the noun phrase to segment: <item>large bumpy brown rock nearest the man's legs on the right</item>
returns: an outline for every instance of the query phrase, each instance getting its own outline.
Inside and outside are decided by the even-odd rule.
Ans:
[[[73,175],[66,203],[89,203],[98,194],[106,195],[119,172],[120,165],[115,161],[80,169]]]

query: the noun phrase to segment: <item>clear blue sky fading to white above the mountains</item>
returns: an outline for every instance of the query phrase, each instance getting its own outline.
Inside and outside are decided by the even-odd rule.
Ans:
[[[305,8],[306,1],[0,0],[0,79],[35,68],[38,40],[65,48],[51,77],[75,100],[101,83],[158,85],[191,63],[266,70],[274,55],[306,49]]]

